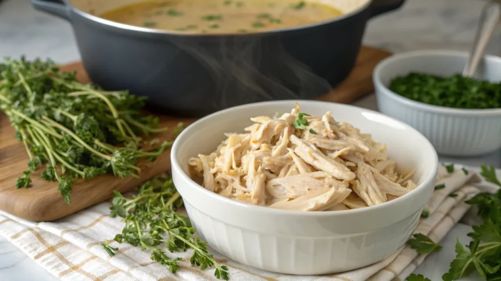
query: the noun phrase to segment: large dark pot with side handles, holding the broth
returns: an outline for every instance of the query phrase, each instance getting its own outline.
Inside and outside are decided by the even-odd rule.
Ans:
[[[179,34],[93,15],[131,0],[31,0],[35,8],[71,21],[93,82],[107,90],[129,89],[167,114],[187,116],[328,92],[353,68],[366,21],[404,0],[345,1],[359,3],[331,20],[221,35]]]

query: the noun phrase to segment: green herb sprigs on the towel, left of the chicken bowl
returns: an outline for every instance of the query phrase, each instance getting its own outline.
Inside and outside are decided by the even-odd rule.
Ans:
[[[125,226],[121,234],[115,236],[117,242],[127,242],[151,251],[151,259],[165,265],[175,273],[179,268],[180,257],[169,257],[160,249],[166,244],[170,252],[193,249],[191,265],[204,270],[214,266],[214,275],[218,279],[228,280],[228,268],[218,264],[207,252],[207,244],[194,237],[195,229],[189,219],[177,213],[183,204],[172,179],[157,177],[139,187],[137,195],[126,198],[115,191],[111,216],[121,216]]]

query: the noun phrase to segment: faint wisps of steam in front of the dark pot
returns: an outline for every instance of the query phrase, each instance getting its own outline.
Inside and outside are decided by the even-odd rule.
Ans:
[[[280,37],[198,37],[173,40],[177,61],[193,61],[193,77],[205,77],[207,106],[215,111],[239,104],[305,99],[327,93],[332,86],[285,49]],[[187,57],[189,56],[189,57]]]

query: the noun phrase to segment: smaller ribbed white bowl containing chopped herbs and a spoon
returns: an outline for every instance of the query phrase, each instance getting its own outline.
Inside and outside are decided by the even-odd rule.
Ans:
[[[478,155],[501,147],[501,109],[458,109],[430,105],[388,89],[391,80],[409,72],[449,76],[461,73],[467,52],[413,51],[392,55],[374,68],[373,81],[379,111],[404,121],[426,136],[438,153]],[[486,55],[475,78],[499,82],[501,57]]]

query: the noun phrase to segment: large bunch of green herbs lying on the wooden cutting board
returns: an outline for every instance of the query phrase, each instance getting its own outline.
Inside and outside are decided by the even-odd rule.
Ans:
[[[138,177],[138,160],[154,160],[170,145],[140,149],[140,134],[167,129],[158,128],[157,118],[139,113],[144,101],[127,91],[83,85],[74,72],[61,72],[50,60],[7,58],[0,63],[0,109],[30,157],[16,187],[29,187],[31,174],[42,164],[42,179],[57,180],[67,203],[77,177]]]

